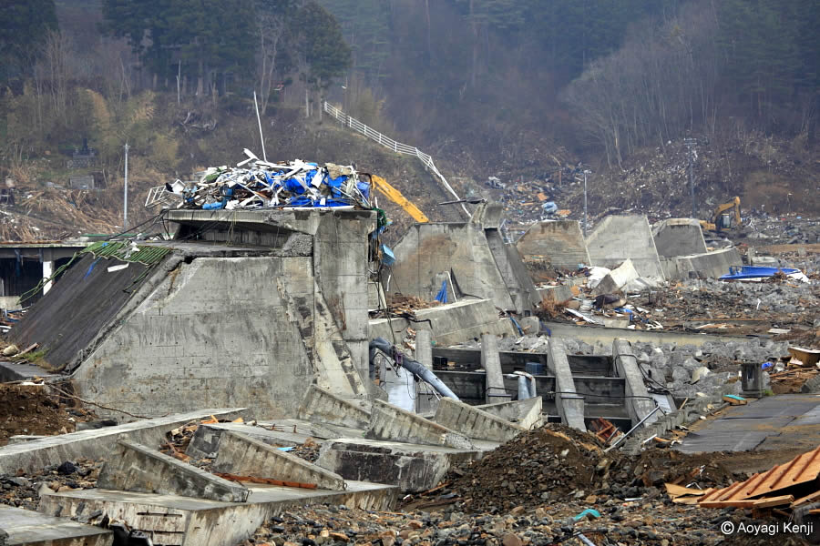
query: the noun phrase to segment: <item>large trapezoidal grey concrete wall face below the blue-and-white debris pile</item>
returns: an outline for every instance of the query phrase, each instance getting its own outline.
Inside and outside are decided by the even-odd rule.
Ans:
[[[311,309],[310,270],[310,257],[179,264],[79,366],[79,395],[137,414],[243,405],[260,416],[287,414],[313,367],[276,278]]]

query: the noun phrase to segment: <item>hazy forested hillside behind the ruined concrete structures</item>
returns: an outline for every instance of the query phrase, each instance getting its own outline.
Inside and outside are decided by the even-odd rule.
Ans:
[[[0,177],[45,192],[28,210],[53,216],[87,139],[110,195],[72,207],[114,226],[126,142],[138,215],[146,187],[260,147],[255,92],[277,157],[415,172],[329,126],[326,99],[432,154],[465,193],[496,176],[518,184],[501,198],[530,187],[577,212],[577,188],[555,182],[582,162],[596,207],[649,207],[642,186],[680,209],[693,137],[704,197],[754,204],[763,184],[815,209],[817,28],[811,0],[7,0]]]

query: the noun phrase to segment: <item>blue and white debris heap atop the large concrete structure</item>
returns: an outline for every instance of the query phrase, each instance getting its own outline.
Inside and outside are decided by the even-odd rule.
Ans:
[[[209,167],[199,181],[174,181],[149,191],[145,206],[254,209],[271,207],[370,208],[370,183],[353,166],[294,159],[270,163],[244,150],[236,167]]]

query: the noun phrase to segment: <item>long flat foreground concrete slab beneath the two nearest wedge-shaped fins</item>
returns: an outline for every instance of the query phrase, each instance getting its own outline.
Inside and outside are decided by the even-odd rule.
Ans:
[[[245,541],[271,516],[311,504],[344,504],[360,510],[393,508],[398,489],[377,483],[348,482],[345,491],[276,486],[251,487],[247,502],[221,502],[177,495],[112,490],[75,490],[45,495],[39,511],[74,518],[95,511],[116,514],[132,529],[145,531],[155,544],[224,546]]]

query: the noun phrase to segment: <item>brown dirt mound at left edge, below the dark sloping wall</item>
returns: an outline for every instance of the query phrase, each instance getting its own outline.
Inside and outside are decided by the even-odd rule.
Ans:
[[[0,445],[16,434],[52,435],[74,432],[85,410],[69,409],[48,394],[43,385],[0,384]],[[69,410],[75,411],[72,416]],[[64,430],[65,429],[65,430]]]

